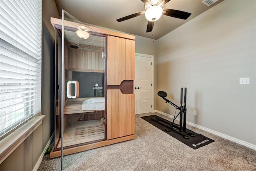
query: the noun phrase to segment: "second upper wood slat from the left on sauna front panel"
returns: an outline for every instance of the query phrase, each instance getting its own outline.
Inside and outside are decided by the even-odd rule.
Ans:
[[[119,38],[112,38],[112,84],[119,85]],[[109,79],[109,78],[108,78]]]

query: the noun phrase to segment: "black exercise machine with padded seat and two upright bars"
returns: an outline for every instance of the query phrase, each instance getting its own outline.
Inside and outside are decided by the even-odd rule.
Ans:
[[[165,100],[165,103],[169,103],[172,106],[174,106],[176,108],[176,110],[178,109],[180,112],[178,113],[178,115],[180,115],[180,123],[179,125],[174,123],[175,119],[178,117],[178,115],[175,117],[176,115],[176,111],[173,117],[173,121],[172,122],[167,122],[159,117],[155,117],[155,118],[151,118],[150,120],[154,120],[157,121],[158,123],[161,123],[162,125],[166,126],[166,131],[176,131],[177,133],[179,133],[180,135],[182,135],[185,139],[188,139],[188,135],[191,137],[195,137],[195,135],[191,132],[189,132],[186,129],[186,113],[187,113],[187,108],[186,108],[186,95],[187,95],[187,88],[184,88],[184,106],[182,106],[183,103],[183,88],[180,88],[180,107],[174,103],[172,103],[172,101],[166,99],[165,97],[167,97],[167,93],[164,91],[158,91],[157,95],[159,95],[160,97],[162,97]],[[182,125],[183,123],[183,125]]]

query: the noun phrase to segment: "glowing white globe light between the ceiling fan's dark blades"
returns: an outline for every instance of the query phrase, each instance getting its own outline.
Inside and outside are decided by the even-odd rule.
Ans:
[[[148,21],[154,22],[162,16],[162,13],[163,8],[161,6],[150,6],[145,12],[145,17]]]

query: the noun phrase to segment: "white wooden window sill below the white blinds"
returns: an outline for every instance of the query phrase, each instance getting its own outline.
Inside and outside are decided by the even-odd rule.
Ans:
[[[42,123],[45,115],[35,116],[0,141],[0,164]]]

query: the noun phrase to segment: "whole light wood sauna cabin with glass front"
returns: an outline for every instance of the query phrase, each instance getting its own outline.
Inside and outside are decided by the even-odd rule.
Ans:
[[[74,21],[64,22],[63,33],[61,19],[51,23],[56,113],[50,158],[61,149],[68,155],[134,139],[135,36]],[[78,37],[80,28],[89,38]]]

